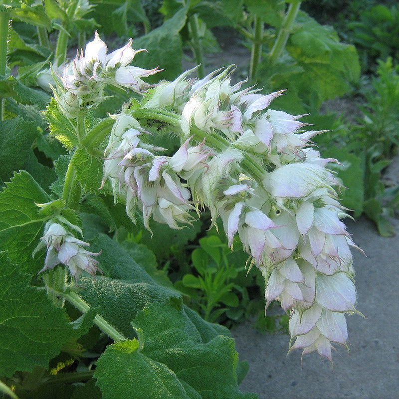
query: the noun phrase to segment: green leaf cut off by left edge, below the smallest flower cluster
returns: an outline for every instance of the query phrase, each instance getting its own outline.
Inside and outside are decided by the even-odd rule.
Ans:
[[[30,287],[30,279],[0,255],[0,376],[46,368],[75,333],[64,310]]]

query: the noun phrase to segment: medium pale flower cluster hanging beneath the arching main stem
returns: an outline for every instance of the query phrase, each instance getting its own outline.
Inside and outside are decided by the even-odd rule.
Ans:
[[[116,122],[106,149],[104,182],[110,179],[115,198],[125,199],[127,214],[134,221],[138,206],[147,228],[151,216],[172,228],[190,222],[191,194],[183,187],[181,178],[187,180],[207,168],[209,149],[203,143],[193,147],[189,139],[173,157],[156,156],[154,152],[165,149],[141,140],[148,132],[135,118],[128,114],[114,118]]]

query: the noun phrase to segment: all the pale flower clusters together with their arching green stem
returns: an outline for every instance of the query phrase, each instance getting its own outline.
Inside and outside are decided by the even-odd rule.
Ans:
[[[221,218],[229,245],[238,235],[248,267],[260,269],[266,306],[278,300],[290,315],[290,350],[331,360],[332,344],[346,346],[345,314],[356,312],[350,251],[356,245],[341,221],[340,184],[326,168],[337,161],[320,158],[312,146],[322,132],[305,130],[303,115],[270,108],[283,91],[263,95],[242,88],[245,81],[231,85],[232,67],[201,80],[191,79],[190,70],[149,85],[143,78],[158,70],[131,66],[138,51],[129,41],[108,54],[96,34],[84,53],[52,75],[57,107],[76,127],[75,141],[89,154],[105,148],[98,189],[112,191],[132,222],[142,220],[148,229],[151,218],[183,228],[194,222],[193,210],[209,208],[212,223]],[[104,100],[108,84],[143,98],[87,134],[88,110]],[[180,137],[172,157],[151,143],[153,126]],[[75,172],[71,163],[63,195],[70,207],[80,198]],[[38,247],[47,249],[43,270],[63,263],[76,280],[82,271],[95,275],[98,253],[78,234],[66,219],[47,221]]]

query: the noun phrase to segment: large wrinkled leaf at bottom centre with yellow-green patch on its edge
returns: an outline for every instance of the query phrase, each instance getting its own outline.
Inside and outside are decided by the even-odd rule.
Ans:
[[[256,398],[238,390],[233,339],[204,341],[181,304],[151,303],[132,324],[139,339],[111,345],[97,362],[104,398]]]

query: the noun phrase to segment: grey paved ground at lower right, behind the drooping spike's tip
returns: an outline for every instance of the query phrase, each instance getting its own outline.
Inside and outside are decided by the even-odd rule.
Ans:
[[[358,310],[367,318],[347,318],[349,348],[337,345],[334,368],[317,353],[286,357],[287,335],[262,335],[242,324],[232,335],[249,373],[240,388],[260,399],[396,399],[399,398],[399,219],[397,235],[378,235],[365,218],[347,219],[354,241]]]

